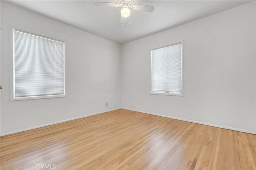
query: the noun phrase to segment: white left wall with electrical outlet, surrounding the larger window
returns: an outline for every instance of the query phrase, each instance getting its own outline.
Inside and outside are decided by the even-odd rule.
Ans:
[[[1,135],[120,108],[120,45],[3,1],[1,28]],[[66,98],[10,101],[12,28],[64,40]]]

